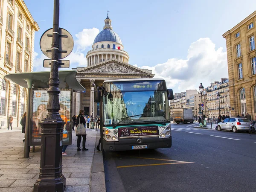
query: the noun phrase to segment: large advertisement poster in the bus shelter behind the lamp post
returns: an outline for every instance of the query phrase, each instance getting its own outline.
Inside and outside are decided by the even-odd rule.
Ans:
[[[47,102],[49,99],[48,89],[32,89],[32,111],[30,113],[30,145],[41,145],[41,126],[39,122],[47,117]],[[71,90],[61,89],[59,95],[60,102],[60,115],[61,119],[65,122],[63,128],[63,144],[71,144]]]

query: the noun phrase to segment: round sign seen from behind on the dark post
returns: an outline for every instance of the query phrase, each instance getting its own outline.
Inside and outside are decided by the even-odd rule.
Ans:
[[[74,40],[72,35],[65,29],[59,28],[59,59],[67,57],[73,50]],[[48,29],[40,39],[41,51],[48,58],[52,58],[52,28]]]

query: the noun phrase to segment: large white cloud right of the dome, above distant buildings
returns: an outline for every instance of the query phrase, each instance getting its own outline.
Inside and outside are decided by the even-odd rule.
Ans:
[[[223,48],[215,49],[209,38],[200,38],[188,49],[187,59],[170,58],[163,64],[154,67],[143,66],[155,74],[154,78],[166,80],[168,88],[175,93],[189,89],[197,89],[202,83],[204,87],[210,82],[228,78],[227,52]]]

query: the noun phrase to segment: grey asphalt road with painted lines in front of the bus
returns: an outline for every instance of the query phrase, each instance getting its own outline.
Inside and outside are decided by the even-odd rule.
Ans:
[[[107,192],[256,191],[256,134],[172,124],[172,147],[104,153]]]

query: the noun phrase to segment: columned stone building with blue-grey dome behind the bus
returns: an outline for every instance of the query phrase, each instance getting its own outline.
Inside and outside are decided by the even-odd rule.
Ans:
[[[124,51],[119,35],[113,31],[107,16],[104,27],[87,52],[87,67],[77,67],[76,79],[86,88],[86,93],[73,94],[73,114],[84,109],[86,115],[99,116],[99,104],[93,102],[91,85],[101,86],[110,79],[153,78],[151,70],[140,69],[129,63],[128,52]]]

